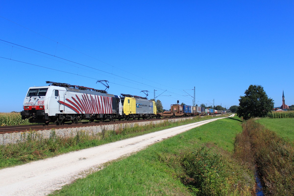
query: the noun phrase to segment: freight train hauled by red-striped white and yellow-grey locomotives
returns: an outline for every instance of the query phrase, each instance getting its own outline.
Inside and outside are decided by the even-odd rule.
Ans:
[[[84,86],[46,81],[49,86],[30,87],[24,99],[22,119],[31,123],[77,123],[89,121],[129,120],[130,118],[160,118],[224,113],[190,105],[171,105],[170,111],[157,113],[153,100],[140,96],[108,94]]]

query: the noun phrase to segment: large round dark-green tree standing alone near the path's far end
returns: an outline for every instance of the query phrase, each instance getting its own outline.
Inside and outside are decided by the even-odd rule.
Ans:
[[[244,120],[254,117],[265,117],[274,107],[273,99],[260,85],[250,85],[245,91],[245,96],[240,96],[237,115],[243,116]]]

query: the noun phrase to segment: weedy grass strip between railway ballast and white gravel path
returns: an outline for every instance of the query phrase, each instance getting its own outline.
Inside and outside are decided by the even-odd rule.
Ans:
[[[205,116],[203,118],[195,117],[193,119],[177,122],[168,122],[165,120],[159,124],[150,123],[144,126],[117,125],[117,128],[114,130],[103,130],[98,134],[79,131],[70,137],[57,136],[55,130],[51,130],[50,137],[44,138],[37,132],[31,131],[23,134],[24,141],[19,141],[15,144],[0,145],[0,168],[20,165],[32,160],[44,159],[62,153],[115,142],[166,128],[224,116],[225,115],[217,117]]]

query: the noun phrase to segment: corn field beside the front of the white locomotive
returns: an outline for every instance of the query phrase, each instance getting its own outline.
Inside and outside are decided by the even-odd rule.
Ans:
[[[29,119],[22,120],[18,112],[0,113],[0,126],[28,125]]]

